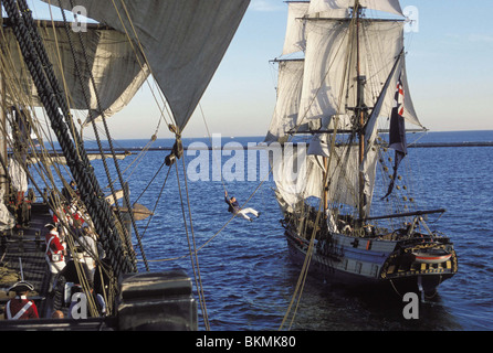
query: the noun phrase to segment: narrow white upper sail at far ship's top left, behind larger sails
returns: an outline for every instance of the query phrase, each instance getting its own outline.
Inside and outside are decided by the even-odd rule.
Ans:
[[[308,11],[310,2],[287,2],[287,25],[283,55],[304,52],[306,46],[305,21],[302,18]]]

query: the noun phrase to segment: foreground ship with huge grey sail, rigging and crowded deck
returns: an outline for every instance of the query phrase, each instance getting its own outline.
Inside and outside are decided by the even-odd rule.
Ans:
[[[143,212],[130,203],[118,164],[125,156],[115,152],[106,119],[124,109],[143,85],[153,86],[154,79],[159,120],[176,138],[166,164],[176,165],[186,125],[250,1],[43,0],[60,21],[33,19],[25,0],[0,2],[7,14],[0,38],[1,263],[13,270],[13,279],[33,285],[32,298],[43,318],[0,320],[0,329],[197,329],[190,278],[176,271],[149,272],[136,226]],[[75,22],[64,10],[75,15]],[[81,15],[94,21],[84,22]],[[88,128],[97,141],[105,181],[96,178],[84,147],[83,132]],[[116,172],[109,171],[111,164]],[[109,185],[108,194],[101,183]],[[97,235],[101,248],[91,252],[78,242],[75,215]],[[87,299],[91,320],[50,321],[56,306],[66,314],[73,288],[60,274],[46,270],[42,237],[48,232],[44,224],[54,220],[63,231],[67,260],[77,270],[76,285]],[[94,285],[101,280],[101,291],[83,270],[90,261],[99,270],[93,280]],[[138,272],[137,261],[146,271]],[[12,282],[2,281],[2,289],[7,285]]]

